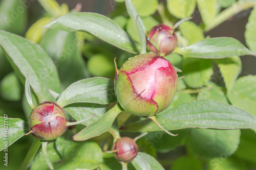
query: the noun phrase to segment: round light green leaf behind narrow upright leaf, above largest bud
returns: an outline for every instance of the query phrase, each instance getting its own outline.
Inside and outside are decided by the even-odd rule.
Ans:
[[[154,19],[151,16],[142,18],[142,21],[144,22],[144,25],[147,31],[150,31],[150,29],[152,29],[154,26],[158,25],[159,23],[156,19]],[[127,21],[126,30],[127,30],[127,33],[133,38],[133,40],[135,40],[136,42],[140,42],[136,25],[131,18],[128,19]]]

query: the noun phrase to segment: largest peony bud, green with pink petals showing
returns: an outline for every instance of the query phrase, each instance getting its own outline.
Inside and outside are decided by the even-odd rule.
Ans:
[[[129,58],[115,76],[117,100],[124,110],[152,116],[172,102],[178,84],[173,65],[154,53]]]

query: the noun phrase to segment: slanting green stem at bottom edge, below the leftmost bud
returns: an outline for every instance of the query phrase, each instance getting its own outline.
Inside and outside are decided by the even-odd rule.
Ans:
[[[19,167],[19,170],[24,170],[27,169],[27,167],[29,166],[29,164],[32,162],[32,160],[34,159],[37,151],[39,150],[41,146],[41,142],[39,139],[35,139],[34,142],[32,143],[25,159],[23,160],[22,164]]]

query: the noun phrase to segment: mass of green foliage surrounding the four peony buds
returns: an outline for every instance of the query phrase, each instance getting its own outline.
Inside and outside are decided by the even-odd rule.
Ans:
[[[8,155],[1,169],[49,169],[44,158],[56,169],[256,168],[256,76],[241,75],[240,59],[256,55],[255,1],[110,0],[115,8],[105,16],[80,12],[79,4],[69,11],[55,0],[38,0],[44,15],[34,11],[33,19],[28,12],[34,2],[0,3],[0,156]],[[248,9],[241,32],[247,45],[205,37]],[[199,25],[188,20],[197,13]],[[148,53],[146,35],[158,23],[178,37],[165,59],[179,71],[179,83],[173,102],[156,118],[178,136],[124,111],[114,90],[114,59],[120,68],[129,57]],[[25,134],[31,108],[45,101],[63,107],[69,122],[95,116],[40,149],[39,140]],[[131,162],[106,152],[120,135],[143,132]]]

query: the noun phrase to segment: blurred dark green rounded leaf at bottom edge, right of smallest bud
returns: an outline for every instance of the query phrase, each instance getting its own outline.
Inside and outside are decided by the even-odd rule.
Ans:
[[[195,157],[181,156],[173,162],[170,170],[181,170],[181,169],[203,170],[203,164],[201,161],[199,161]]]

